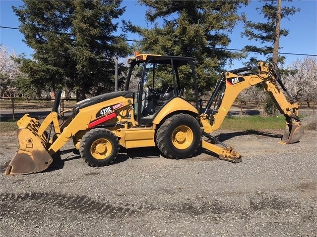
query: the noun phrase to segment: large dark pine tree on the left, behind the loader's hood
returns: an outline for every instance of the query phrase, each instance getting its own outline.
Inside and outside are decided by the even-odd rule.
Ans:
[[[129,52],[112,23],[124,11],[121,0],[32,1],[13,7],[33,59],[22,71],[43,89],[69,88],[77,99],[113,91],[113,59]]]

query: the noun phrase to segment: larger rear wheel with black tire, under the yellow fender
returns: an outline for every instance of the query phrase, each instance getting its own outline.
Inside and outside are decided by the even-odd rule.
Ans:
[[[173,115],[157,130],[156,144],[167,158],[188,158],[201,145],[199,123],[189,114]]]

